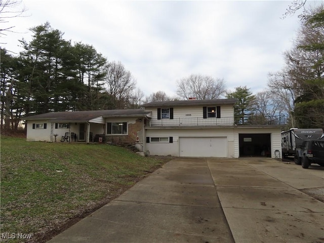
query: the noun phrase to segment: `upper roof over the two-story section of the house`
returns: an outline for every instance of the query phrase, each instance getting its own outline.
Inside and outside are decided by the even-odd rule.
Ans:
[[[234,105],[236,99],[216,99],[216,100],[176,100],[176,101],[155,101],[143,104],[143,107],[161,106],[192,106],[192,105]]]

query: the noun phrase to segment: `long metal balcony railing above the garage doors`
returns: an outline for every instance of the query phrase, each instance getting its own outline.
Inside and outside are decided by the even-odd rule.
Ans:
[[[195,118],[174,118],[174,119],[151,119],[146,127],[191,127],[191,126],[265,126],[284,125],[284,116],[260,117],[250,116],[243,121],[236,117],[195,117]]]

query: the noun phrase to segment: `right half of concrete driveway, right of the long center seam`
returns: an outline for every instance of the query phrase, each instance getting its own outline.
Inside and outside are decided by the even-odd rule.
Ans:
[[[322,188],[322,168],[272,159],[208,165],[236,243],[324,242],[324,204],[298,190]]]

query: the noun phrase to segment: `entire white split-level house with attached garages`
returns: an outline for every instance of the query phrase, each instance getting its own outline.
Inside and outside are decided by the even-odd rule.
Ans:
[[[141,109],[26,117],[28,141],[133,144],[150,155],[281,156],[281,117],[234,118],[234,99],[159,101]]]

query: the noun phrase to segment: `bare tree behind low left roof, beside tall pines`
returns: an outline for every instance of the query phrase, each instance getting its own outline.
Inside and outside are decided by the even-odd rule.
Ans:
[[[115,108],[124,109],[127,99],[135,89],[136,80],[120,62],[109,62],[105,66],[105,86],[108,94],[116,100]]]

